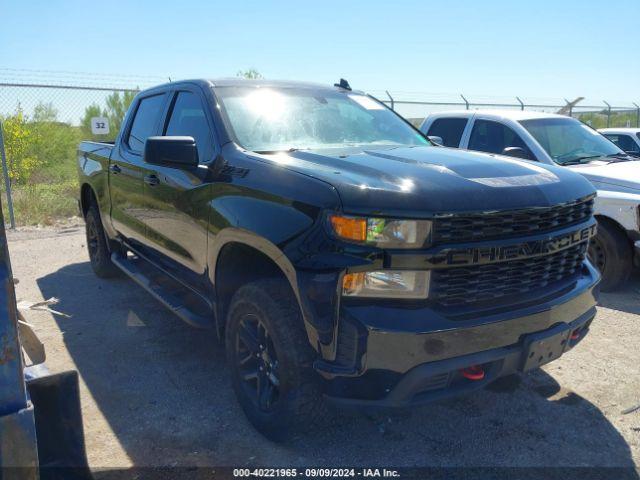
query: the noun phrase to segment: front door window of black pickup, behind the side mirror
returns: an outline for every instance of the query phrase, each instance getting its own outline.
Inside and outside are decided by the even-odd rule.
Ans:
[[[213,149],[212,133],[202,102],[194,93],[178,93],[165,135],[193,137],[200,161],[210,160]]]

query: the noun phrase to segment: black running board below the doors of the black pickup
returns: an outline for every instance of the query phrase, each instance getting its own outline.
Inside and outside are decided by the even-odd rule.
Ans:
[[[148,275],[145,274],[144,269],[138,265],[144,260],[128,260],[122,255],[113,253],[111,255],[111,261],[120,270],[131,277],[131,279],[144,288],[161,304],[175,313],[182,320],[197,328],[212,328],[213,327],[213,314],[205,316],[194,312],[189,309],[180,298],[173,293],[169,292],[166,287],[163,287],[157,282],[154,282]],[[154,268],[154,267],[151,267]]]

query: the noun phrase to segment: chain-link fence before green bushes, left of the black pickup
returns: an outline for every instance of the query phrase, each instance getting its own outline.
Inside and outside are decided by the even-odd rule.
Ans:
[[[78,143],[114,141],[137,91],[0,82],[3,195],[12,226],[52,224],[77,214]],[[92,134],[93,117],[108,118],[108,134]]]

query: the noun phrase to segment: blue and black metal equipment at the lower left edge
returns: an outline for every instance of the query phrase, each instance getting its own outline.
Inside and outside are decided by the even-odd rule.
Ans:
[[[51,375],[44,346],[19,319],[1,204],[0,282],[0,478],[89,479],[78,375]],[[21,337],[39,365],[25,367]]]

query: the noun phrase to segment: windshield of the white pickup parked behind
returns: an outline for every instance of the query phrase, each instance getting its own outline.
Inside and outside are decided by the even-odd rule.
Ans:
[[[623,154],[605,137],[573,118],[538,118],[521,120],[520,124],[560,165]]]

